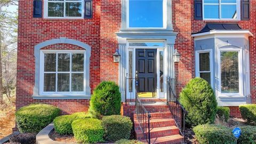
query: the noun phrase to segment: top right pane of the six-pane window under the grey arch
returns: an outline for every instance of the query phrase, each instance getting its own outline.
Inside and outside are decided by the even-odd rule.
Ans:
[[[84,71],[84,54],[72,54],[72,71]]]

